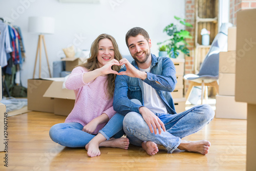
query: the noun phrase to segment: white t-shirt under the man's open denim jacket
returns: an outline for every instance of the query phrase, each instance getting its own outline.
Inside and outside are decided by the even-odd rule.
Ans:
[[[152,68],[152,65],[147,69],[139,68],[139,70],[142,72],[150,72],[151,68]],[[144,87],[144,94],[143,94],[144,106],[154,113],[167,114],[165,105],[163,104],[162,100],[158,96],[156,90],[145,82],[143,82],[143,87]]]

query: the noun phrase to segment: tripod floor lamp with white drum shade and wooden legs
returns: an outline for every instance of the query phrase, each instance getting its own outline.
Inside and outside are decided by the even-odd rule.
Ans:
[[[47,64],[48,64],[49,75],[50,75],[50,77],[52,77],[49,60],[48,60],[48,55],[47,55],[47,50],[46,50],[44,34],[53,34],[54,33],[54,18],[52,18],[52,17],[37,17],[37,16],[29,17],[29,32],[37,33],[37,34],[39,33],[33,78],[35,77],[35,69],[36,69],[38,53],[39,53],[39,73],[38,74],[39,74],[39,78],[41,78],[42,43],[44,44],[44,47],[45,47],[45,54],[46,54],[46,60],[47,60]]]

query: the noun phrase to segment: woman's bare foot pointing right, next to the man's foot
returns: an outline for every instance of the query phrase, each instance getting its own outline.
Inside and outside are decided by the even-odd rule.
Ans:
[[[107,141],[101,142],[99,146],[128,149],[129,143],[128,138],[111,138]]]

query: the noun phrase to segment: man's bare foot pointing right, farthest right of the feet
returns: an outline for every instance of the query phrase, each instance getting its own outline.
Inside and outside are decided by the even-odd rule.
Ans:
[[[206,155],[209,152],[210,142],[206,140],[200,141],[185,141],[181,140],[179,149],[185,150],[188,152],[195,152]]]

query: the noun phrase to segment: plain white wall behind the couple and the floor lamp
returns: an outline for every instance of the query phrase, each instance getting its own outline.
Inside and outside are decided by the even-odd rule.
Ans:
[[[152,53],[158,54],[157,42],[167,38],[163,29],[175,22],[174,15],[185,16],[184,0],[101,0],[100,4],[59,3],[57,0],[0,0],[0,17],[11,20],[22,29],[26,61],[22,82],[33,77],[38,35],[28,32],[30,16],[55,18],[55,33],[45,35],[50,65],[65,56],[62,48],[75,44],[90,49],[92,41],[101,33],[114,36],[123,55],[130,54],[125,34],[133,27],[144,28],[153,42]],[[37,66],[38,72],[38,66]],[[37,74],[36,72],[36,74]],[[42,55],[42,77],[49,77],[45,55]],[[52,70],[51,70],[52,72]],[[38,74],[37,74],[38,75]]]

